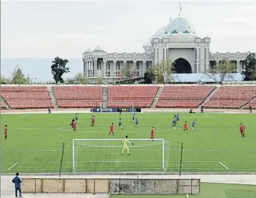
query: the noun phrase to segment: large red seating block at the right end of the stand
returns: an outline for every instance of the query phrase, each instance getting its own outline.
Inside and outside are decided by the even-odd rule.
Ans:
[[[222,86],[210,97],[204,107],[241,108],[255,96],[256,86]]]

